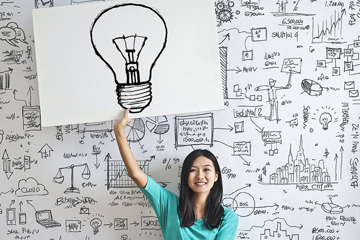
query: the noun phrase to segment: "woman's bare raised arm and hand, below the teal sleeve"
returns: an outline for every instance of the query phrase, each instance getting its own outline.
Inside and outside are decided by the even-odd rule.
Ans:
[[[139,188],[145,188],[147,184],[147,175],[140,170],[136,159],[132,155],[124,131],[126,125],[131,122],[131,119],[128,118],[128,111],[129,109],[126,109],[123,117],[114,122],[113,129],[117,146],[119,148],[121,158],[126,166],[128,176],[136,183]]]

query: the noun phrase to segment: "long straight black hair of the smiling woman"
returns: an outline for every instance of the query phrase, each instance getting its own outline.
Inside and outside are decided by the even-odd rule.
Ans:
[[[204,209],[204,223],[207,229],[217,228],[221,223],[221,218],[224,215],[224,210],[221,206],[222,200],[222,179],[221,171],[216,157],[208,150],[197,149],[189,153],[183,164],[181,170],[180,180],[180,195],[179,205],[177,206],[177,214],[180,218],[181,227],[190,227],[195,223],[195,205],[193,202],[193,192],[188,186],[187,179],[190,174],[190,169],[193,161],[200,156],[210,159],[214,165],[215,173],[218,173],[217,181],[214,182],[209,195],[206,198]]]

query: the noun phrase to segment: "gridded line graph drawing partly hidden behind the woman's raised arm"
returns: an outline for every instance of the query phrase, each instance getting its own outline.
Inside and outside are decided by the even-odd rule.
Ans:
[[[140,170],[148,175],[149,162],[154,159],[152,156],[150,160],[136,160]],[[110,160],[107,158],[107,190],[110,188],[137,188],[135,182],[128,176],[125,164],[122,160]]]

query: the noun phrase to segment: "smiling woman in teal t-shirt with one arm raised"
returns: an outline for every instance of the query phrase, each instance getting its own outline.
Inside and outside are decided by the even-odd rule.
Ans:
[[[195,150],[185,158],[177,197],[139,169],[124,132],[131,122],[128,111],[113,126],[117,145],[128,176],[154,209],[164,239],[233,240],[238,218],[221,206],[222,180],[216,157],[207,150]]]

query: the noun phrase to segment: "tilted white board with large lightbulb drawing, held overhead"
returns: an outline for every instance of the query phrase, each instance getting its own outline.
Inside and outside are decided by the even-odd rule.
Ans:
[[[191,7],[188,7],[191,5]],[[213,2],[34,9],[42,126],[223,109]]]

